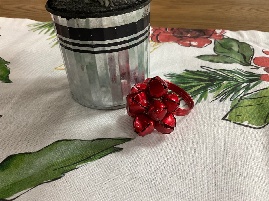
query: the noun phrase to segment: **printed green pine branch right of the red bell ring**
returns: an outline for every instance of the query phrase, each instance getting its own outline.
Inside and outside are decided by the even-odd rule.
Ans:
[[[260,74],[241,69],[201,68],[204,70],[185,70],[181,74],[171,73],[165,76],[187,91],[193,99],[198,98],[196,104],[202,99],[206,100],[208,93],[214,93],[212,101],[219,99],[219,102],[223,102],[229,97],[232,101],[262,82]]]

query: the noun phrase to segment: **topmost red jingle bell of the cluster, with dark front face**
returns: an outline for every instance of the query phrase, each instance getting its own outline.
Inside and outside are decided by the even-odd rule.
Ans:
[[[167,83],[158,76],[147,80],[145,84],[147,85],[147,94],[151,98],[161,98],[168,92]]]

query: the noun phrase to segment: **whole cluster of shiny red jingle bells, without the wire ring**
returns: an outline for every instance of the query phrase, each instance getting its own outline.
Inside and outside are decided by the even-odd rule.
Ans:
[[[134,118],[133,129],[139,136],[151,134],[154,128],[169,134],[176,126],[173,112],[178,109],[180,100],[168,92],[167,83],[160,77],[148,78],[135,84],[126,97],[127,113]]]

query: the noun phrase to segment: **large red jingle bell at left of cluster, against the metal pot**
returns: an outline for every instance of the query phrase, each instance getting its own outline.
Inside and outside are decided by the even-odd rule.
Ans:
[[[129,93],[126,97],[126,110],[129,116],[135,117],[137,114],[143,113],[148,107],[148,98],[145,92],[138,90]]]

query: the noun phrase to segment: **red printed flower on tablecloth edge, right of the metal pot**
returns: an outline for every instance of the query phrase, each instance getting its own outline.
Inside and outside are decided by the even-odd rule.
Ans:
[[[210,39],[222,39],[226,30],[153,27],[152,31],[153,42],[176,42],[186,47],[205,47],[212,42]]]

